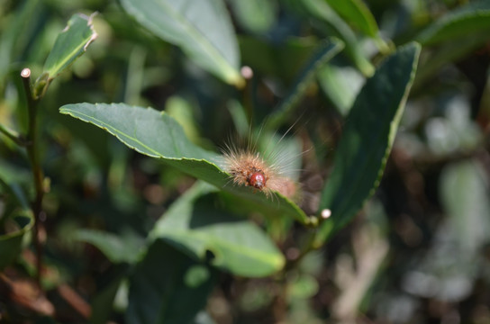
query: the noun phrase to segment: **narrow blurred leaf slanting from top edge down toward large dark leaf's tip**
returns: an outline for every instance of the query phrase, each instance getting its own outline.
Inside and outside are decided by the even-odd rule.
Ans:
[[[352,31],[338,14],[336,14],[325,0],[301,0],[309,14],[327,23],[340,40],[345,42],[346,54],[352,59],[359,71],[365,76],[372,76],[375,68],[366,58],[356,34]]]

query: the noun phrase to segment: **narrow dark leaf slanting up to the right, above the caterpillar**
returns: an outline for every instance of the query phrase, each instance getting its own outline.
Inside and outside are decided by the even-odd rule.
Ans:
[[[286,98],[277,107],[277,110],[268,118],[267,127],[269,129],[277,129],[281,122],[289,116],[291,110],[303,98],[308,85],[313,83],[314,76],[318,70],[342,49],[343,43],[340,40],[327,39],[322,41],[296,78],[292,90],[289,91]]]

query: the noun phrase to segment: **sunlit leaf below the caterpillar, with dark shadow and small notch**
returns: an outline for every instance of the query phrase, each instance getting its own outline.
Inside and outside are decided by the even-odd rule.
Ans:
[[[213,253],[213,266],[234,275],[259,277],[280,270],[285,259],[274,243],[250,220],[227,211],[217,189],[195,185],[157,222],[150,238],[164,238],[190,256],[204,260]]]

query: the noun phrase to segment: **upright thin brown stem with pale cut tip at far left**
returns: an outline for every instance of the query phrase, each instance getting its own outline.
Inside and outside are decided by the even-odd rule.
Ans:
[[[27,98],[27,110],[29,114],[28,130],[27,130],[27,155],[31,162],[32,178],[34,181],[34,188],[36,196],[34,202],[32,202],[32,212],[34,213],[34,245],[36,247],[36,267],[37,275],[36,280],[41,287],[41,267],[42,267],[42,246],[40,239],[41,229],[41,215],[42,215],[42,198],[44,196],[43,179],[41,165],[38,157],[38,145],[37,145],[37,103],[39,98],[32,96],[32,84],[31,84],[31,70],[24,68],[21,72],[23,79],[23,88]]]

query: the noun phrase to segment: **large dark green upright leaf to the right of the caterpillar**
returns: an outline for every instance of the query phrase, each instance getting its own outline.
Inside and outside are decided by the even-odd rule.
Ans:
[[[374,193],[404,112],[420,50],[417,43],[399,48],[358,94],[322,192],[320,211],[330,209],[331,217],[322,222],[317,246],[351,220]]]

